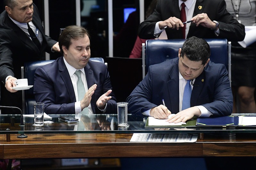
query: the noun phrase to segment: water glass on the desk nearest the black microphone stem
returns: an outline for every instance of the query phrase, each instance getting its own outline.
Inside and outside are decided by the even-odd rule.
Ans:
[[[34,126],[44,126],[44,103],[34,103]]]

